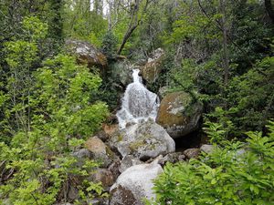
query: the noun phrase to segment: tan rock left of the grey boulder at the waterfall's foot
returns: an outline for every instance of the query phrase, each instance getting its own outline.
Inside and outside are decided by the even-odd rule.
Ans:
[[[107,168],[114,159],[117,159],[111,149],[98,137],[89,138],[85,147],[90,150],[93,159],[100,160],[102,163],[100,166],[103,168]]]

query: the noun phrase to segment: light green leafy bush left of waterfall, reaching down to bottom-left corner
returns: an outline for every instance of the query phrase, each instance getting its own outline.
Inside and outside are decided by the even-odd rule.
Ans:
[[[72,155],[108,116],[107,106],[92,98],[100,77],[65,55],[47,59],[34,76],[24,109],[21,104],[11,107],[19,113],[28,110],[28,127],[10,130],[10,143],[0,143],[0,204],[68,201],[71,187],[78,190],[78,198],[71,202],[81,204],[101,195],[100,184],[85,180],[98,164],[90,159],[79,163]],[[12,106],[7,102],[2,106]]]

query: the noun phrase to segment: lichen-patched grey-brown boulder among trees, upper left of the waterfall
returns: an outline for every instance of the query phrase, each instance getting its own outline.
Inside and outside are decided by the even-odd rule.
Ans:
[[[79,64],[87,64],[88,67],[100,67],[102,69],[108,66],[107,57],[86,41],[67,40],[66,48],[68,52],[77,56]]]

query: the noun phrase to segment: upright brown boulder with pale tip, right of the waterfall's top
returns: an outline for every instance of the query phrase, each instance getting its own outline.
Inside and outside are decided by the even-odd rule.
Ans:
[[[146,64],[141,67],[142,77],[149,83],[153,83],[161,72],[161,65],[163,62],[164,51],[158,48],[153,51],[153,54]]]

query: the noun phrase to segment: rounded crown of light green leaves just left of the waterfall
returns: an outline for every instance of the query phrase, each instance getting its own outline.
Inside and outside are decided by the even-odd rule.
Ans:
[[[52,135],[59,138],[62,128],[66,135],[88,137],[100,128],[108,111],[104,103],[92,99],[100,87],[99,76],[91,74],[87,67],[77,66],[73,57],[64,55],[45,61],[36,76],[37,92],[33,101],[37,100],[38,112],[46,112],[52,119],[47,125]]]

